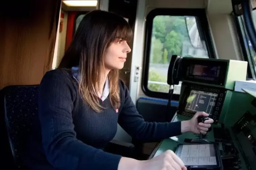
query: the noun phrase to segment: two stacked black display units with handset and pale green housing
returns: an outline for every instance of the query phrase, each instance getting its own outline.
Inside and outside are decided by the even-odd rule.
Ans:
[[[245,61],[173,55],[167,83],[177,85],[182,82],[177,114],[191,118],[196,112],[206,112],[214,124],[219,123],[223,105],[228,105],[228,102],[224,103],[225,98],[232,96],[235,81],[246,79],[246,69]]]

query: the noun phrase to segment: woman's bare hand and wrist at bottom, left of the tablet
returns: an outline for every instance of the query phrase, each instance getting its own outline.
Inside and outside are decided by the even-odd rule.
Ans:
[[[164,153],[147,161],[138,161],[122,157],[118,170],[187,170],[182,160],[172,151]]]

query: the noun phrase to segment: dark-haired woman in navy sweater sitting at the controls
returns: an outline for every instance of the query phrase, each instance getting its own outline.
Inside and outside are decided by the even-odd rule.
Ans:
[[[129,24],[120,16],[94,10],[81,21],[58,69],[46,73],[39,87],[42,147],[49,162],[45,169],[153,170],[186,169],[172,151],[152,160],[138,161],[104,152],[117,124],[142,140],[165,139],[186,131],[206,133],[212,120],[145,122],[129,91],[118,77],[132,38]],[[37,159],[38,160],[38,159]],[[37,163],[42,166],[43,161]]]

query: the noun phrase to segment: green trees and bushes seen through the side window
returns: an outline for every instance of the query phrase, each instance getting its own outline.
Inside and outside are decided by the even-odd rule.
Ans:
[[[188,39],[183,16],[156,16],[153,20],[150,63],[169,64],[172,55],[182,55],[182,43]],[[149,81],[167,82],[167,77],[149,71]],[[168,92],[169,85],[148,83],[151,91]]]

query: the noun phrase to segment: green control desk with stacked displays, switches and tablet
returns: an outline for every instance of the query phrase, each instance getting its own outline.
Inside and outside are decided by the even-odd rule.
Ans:
[[[182,87],[172,121],[189,120],[204,111],[214,124],[203,140],[202,135],[186,132],[161,141],[150,158],[173,150],[185,165],[193,165],[191,169],[256,170],[256,92],[234,91],[236,81],[246,80],[247,62],[182,58],[178,64],[175,78]],[[200,167],[217,163],[217,168]]]

